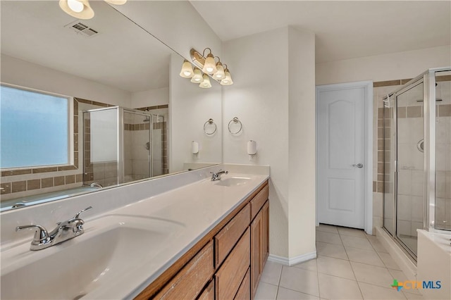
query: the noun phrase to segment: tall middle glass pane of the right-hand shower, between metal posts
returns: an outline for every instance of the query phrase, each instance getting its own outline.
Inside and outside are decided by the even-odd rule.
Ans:
[[[424,219],[424,82],[396,94],[396,236],[416,256]]]

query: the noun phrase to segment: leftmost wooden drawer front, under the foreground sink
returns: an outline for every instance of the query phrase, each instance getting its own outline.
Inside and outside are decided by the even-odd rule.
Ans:
[[[213,242],[209,242],[156,294],[155,299],[195,299],[213,273]]]

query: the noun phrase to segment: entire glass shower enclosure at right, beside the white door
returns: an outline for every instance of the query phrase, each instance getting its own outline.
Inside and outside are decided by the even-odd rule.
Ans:
[[[416,259],[416,230],[451,230],[451,68],[383,99],[383,226]]]

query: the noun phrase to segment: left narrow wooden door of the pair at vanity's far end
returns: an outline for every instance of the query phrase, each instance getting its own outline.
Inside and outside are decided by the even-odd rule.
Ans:
[[[261,273],[261,230],[262,219],[261,212],[257,214],[251,223],[251,291],[252,299],[259,285]]]

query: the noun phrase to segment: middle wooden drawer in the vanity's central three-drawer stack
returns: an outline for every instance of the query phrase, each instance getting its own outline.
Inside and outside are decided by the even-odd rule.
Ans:
[[[216,300],[233,299],[250,265],[250,230],[246,230],[235,248],[216,272]]]

